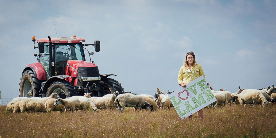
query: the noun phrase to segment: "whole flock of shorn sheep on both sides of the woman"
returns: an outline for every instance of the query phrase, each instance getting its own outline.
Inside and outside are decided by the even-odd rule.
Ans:
[[[276,88],[268,87],[268,89],[240,89],[236,93],[231,93],[224,89],[220,91],[213,90],[210,87],[217,101],[209,105],[209,108],[215,108],[217,105],[224,105],[227,103],[235,104],[262,104],[266,106],[268,103],[273,103],[276,100]],[[168,94],[172,92],[168,91]],[[119,94],[117,91],[113,94],[107,94],[103,97],[90,97],[91,93],[85,93],[84,96],[72,96],[70,98],[59,98],[57,93],[52,93],[49,97],[44,98],[27,98],[17,97],[13,98],[6,106],[7,112],[24,113],[26,111],[35,112],[52,112],[60,111],[66,112],[71,110],[93,110],[117,107],[118,111],[123,112],[125,107],[134,107],[135,110],[148,109],[156,110],[159,108],[173,108],[168,94],[163,91],[158,91],[154,95],[149,94],[130,94],[125,92]]]

